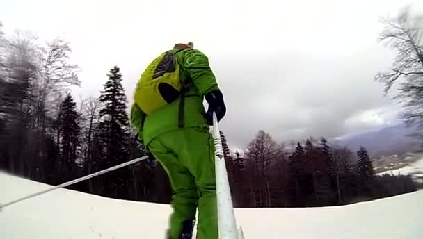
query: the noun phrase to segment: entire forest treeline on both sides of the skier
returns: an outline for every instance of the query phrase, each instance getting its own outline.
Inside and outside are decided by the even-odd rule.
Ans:
[[[70,45],[36,39],[22,31],[6,36],[0,25],[0,169],[58,185],[144,156],[129,125],[120,68],[105,72],[98,97],[77,103]],[[364,147],[354,154],[309,139],[290,149],[260,131],[241,156],[231,154],[223,132],[221,138],[234,206],[341,205],[416,190],[409,176],[375,176]],[[153,158],[69,188],[166,204],[172,195]]]

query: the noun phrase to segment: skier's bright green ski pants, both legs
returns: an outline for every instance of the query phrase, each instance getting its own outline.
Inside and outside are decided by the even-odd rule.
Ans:
[[[195,128],[159,135],[148,145],[173,189],[168,239],[179,239],[185,220],[195,219],[197,239],[217,239],[216,178],[212,134]]]

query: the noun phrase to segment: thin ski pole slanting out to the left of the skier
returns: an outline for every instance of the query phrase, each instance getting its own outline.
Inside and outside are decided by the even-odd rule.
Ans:
[[[15,203],[17,203],[17,202],[19,202],[19,201],[24,201],[24,200],[29,199],[29,198],[31,198],[31,197],[35,197],[35,196],[38,196],[38,195],[42,195],[42,194],[44,194],[44,193],[46,193],[46,192],[50,192],[50,191],[52,191],[52,190],[56,190],[56,189],[58,189],[58,188],[65,188],[65,187],[67,187],[67,186],[70,186],[70,185],[75,184],[75,183],[79,183],[79,182],[81,182],[81,181],[85,181],[85,180],[87,180],[87,179],[92,179],[92,178],[93,178],[93,177],[95,177],[95,176],[99,176],[99,175],[101,175],[101,174],[105,174],[105,173],[107,173],[107,172],[111,172],[111,171],[113,171],[113,170],[117,170],[117,169],[118,169],[118,168],[120,168],[120,167],[125,167],[125,166],[127,166],[127,165],[131,165],[131,164],[136,163],[136,162],[139,162],[139,161],[141,161],[141,160],[145,160],[145,159],[147,159],[147,158],[148,158],[148,156],[147,156],[147,155],[146,155],[146,156],[143,156],[143,157],[141,157],[141,158],[135,158],[135,159],[130,160],[130,161],[126,162],[126,163],[121,163],[120,165],[115,165],[115,166],[113,166],[113,167],[109,167],[109,168],[108,168],[108,169],[106,169],[106,170],[101,170],[101,171],[99,171],[99,172],[95,172],[95,173],[93,173],[93,174],[89,174],[89,175],[87,175],[87,176],[83,176],[83,177],[81,177],[81,178],[79,178],[79,179],[74,179],[74,180],[72,180],[72,181],[68,181],[68,182],[66,182],[66,183],[62,183],[62,184],[60,184],[60,185],[58,185],[58,186],[54,186],[53,188],[49,188],[49,189],[47,189],[47,190],[43,190],[43,191],[41,191],[41,192],[36,192],[36,193],[34,193],[34,194],[32,194],[32,195],[28,195],[28,196],[26,196],[26,197],[22,197],[22,198],[20,198],[20,199],[16,199],[15,201],[10,201],[10,202],[8,202],[7,204],[0,204],[0,211],[1,211],[1,209],[5,208],[6,206],[10,206],[10,205],[15,204]]]

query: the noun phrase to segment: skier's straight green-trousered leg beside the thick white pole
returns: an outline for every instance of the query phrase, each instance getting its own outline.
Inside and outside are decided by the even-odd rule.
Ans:
[[[216,177],[212,135],[200,129],[184,129],[184,164],[198,186],[197,239],[217,239]]]

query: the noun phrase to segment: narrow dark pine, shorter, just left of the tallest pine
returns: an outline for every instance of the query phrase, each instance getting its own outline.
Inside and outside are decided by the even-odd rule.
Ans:
[[[70,94],[63,100],[58,115],[58,142],[61,155],[61,166],[65,179],[70,179],[70,172],[76,165],[77,147],[79,146],[79,113],[75,110],[77,104]]]

